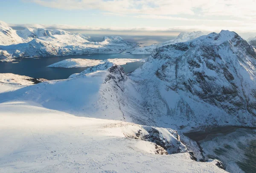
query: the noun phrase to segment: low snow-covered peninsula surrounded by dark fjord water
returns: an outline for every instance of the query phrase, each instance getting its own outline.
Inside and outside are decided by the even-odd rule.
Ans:
[[[145,59],[107,59],[107,60],[90,60],[90,59],[81,59],[81,58],[71,58],[67,60],[62,60],[56,62],[48,67],[58,67],[58,68],[77,68],[77,67],[90,67],[94,65],[104,64],[105,62],[112,62],[117,65],[125,65],[128,62],[145,62]]]

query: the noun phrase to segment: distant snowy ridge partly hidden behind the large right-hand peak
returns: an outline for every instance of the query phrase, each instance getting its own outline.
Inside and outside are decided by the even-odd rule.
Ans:
[[[164,43],[160,44],[153,44],[149,46],[144,46],[144,47],[137,47],[134,48],[131,51],[128,51],[127,53],[129,54],[151,54],[155,48],[161,47],[163,45],[169,45],[169,44],[174,44],[174,43],[179,43],[179,42],[185,42],[189,40],[193,40],[195,38],[198,38],[202,35],[205,35],[206,33],[202,31],[193,31],[193,32],[181,32],[175,39],[169,40]]]

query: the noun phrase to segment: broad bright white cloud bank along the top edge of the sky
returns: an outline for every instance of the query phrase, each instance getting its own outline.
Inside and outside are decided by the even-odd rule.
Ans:
[[[30,0],[58,9],[97,9],[110,14],[192,15],[253,19],[256,0]]]

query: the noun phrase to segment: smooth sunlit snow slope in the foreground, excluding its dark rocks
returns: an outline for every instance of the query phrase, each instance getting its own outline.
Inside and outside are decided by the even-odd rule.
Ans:
[[[193,161],[188,153],[158,155],[155,143],[133,138],[140,130],[149,134],[151,127],[76,117],[27,102],[1,103],[0,121],[4,173],[225,172],[215,162]],[[177,141],[172,130],[159,132]]]

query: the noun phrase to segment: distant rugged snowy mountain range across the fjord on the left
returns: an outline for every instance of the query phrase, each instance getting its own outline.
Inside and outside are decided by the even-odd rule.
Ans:
[[[119,53],[134,47],[118,36],[94,42],[84,34],[44,28],[14,30],[4,22],[0,22],[0,40],[0,59],[6,61],[15,57]]]

